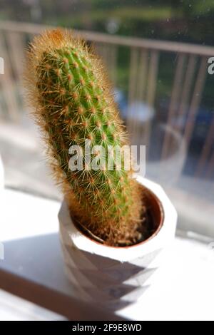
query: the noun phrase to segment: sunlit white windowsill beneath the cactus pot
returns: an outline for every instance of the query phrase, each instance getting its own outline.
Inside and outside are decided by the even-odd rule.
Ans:
[[[72,299],[67,299],[72,298],[72,287],[63,274],[58,243],[59,202],[13,190],[5,190],[0,199],[0,239],[5,249],[0,272],[4,273],[4,279],[6,274],[9,276],[7,286],[0,280],[0,289],[15,294],[18,290],[19,296],[30,297],[32,301],[34,294],[28,295],[26,291],[32,289],[27,283],[33,283],[35,290],[42,287],[44,292],[33,302],[39,301],[41,306],[47,307],[46,301],[53,294],[53,301],[63,302],[71,313],[64,313],[60,303],[49,306],[53,311],[72,319],[72,315],[75,316],[72,308],[77,308],[82,319],[92,319],[93,309],[84,309],[81,304],[76,307]],[[17,289],[16,278],[24,279],[23,289]],[[118,311],[114,318],[214,320],[214,252],[208,245],[176,237],[155,279],[137,304]],[[103,314],[103,318],[106,317],[109,318]],[[96,318],[102,319],[102,314],[94,314]]]

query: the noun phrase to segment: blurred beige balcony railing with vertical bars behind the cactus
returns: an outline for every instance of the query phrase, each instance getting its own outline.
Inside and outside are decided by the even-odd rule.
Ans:
[[[26,42],[47,26],[36,24],[25,24],[10,21],[0,22],[0,56],[4,58],[5,73],[0,76],[1,84],[1,118],[10,119],[14,122],[20,118],[24,110],[22,73],[24,64],[24,51]],[[118,63],[121,61],[122,53],[119,48],[128,49],[128,105],[131,106],[136,100],[146,103],[153,108],[156,101],[156,86],[159,59],[161,53],[174,54],[173,78],[171,78],[172,90],[170,102],[168,103],[167,124],[170,125],[175,116],[185,117],[185,128],[183,139],[188,148],[191,135],[194,130],[194,120],[200,105],[201,95],[205,86],[205,78],[208,68],[208,57],[214,55],[214,48],[210,46],[198,46],[187,43],[175,43],[169,41],[155,41],[144,38],[128,38],[123,36],[111,36],[105,33],[91,31],[75,31],[88,41],[93,42],[98,52],[108,66],[113,84],[117,86]],[[133,113],[133,108],[128,109]],[[185,113],[187,115],[185,115]],[[137,118],[128,115],[128,126],[130,133],[135,133]],[[203,169],[212,146],[212,134],[214,122],[210,125],[207,138],[205,139],[205,150],[200,156],[198,172]],[[143,128],[141,144],[149,143],[151,137],[151,122],[147,122]],[[136,134],[135,134],[136,136]],[[162,146],[162,158],[167,157],[170,146],[170,136],[165,135]],[[214,165],[214,155],[210,160],[210,168]],[[198,173],[197,172],[197,173]]]

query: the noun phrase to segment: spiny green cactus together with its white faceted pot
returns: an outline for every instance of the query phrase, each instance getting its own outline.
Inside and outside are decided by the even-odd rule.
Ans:
[[[126,155],[118,163],[113,148],[127,148],[126,131],[103,64],[85,41],[46,31],[27,63],[29,102],[64,194],[66,274],[79,299],[121,308],[146,289],[153,260],[174,237],[175,209],[159,185],[133,177]]]

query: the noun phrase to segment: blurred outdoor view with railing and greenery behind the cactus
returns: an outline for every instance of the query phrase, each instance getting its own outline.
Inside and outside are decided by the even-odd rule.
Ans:
[[[27,43],[46,26],[79,31],[108,67],[146,177],[178,210],[178,228],[214,236],[212,0],[1,0],[0,152],[6,186],[60,199],[24,104]]]

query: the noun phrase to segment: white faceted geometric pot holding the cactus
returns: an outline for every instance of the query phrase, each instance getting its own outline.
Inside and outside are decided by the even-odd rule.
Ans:
[[[110,309],[135,302],[147,289],[149,278],[151,282],[161,251],[175,236],[177,213],[161,186],[143,177],[137,180],[147,189],[154,232],[131,247],[108,247],[86,237],[73,224],[66,202],[61,205],[61,248],[66,274],[78,299]]]

